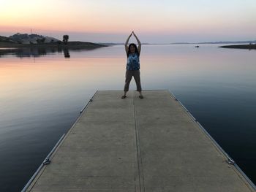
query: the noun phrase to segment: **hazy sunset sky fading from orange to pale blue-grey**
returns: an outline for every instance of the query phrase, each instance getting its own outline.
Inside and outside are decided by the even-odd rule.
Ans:
[[[256,39],[255,0],[0,0],[0,35],[43,34],[89,42]]]

